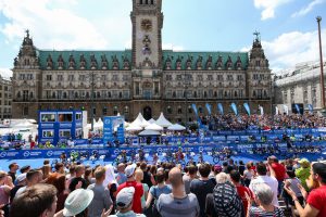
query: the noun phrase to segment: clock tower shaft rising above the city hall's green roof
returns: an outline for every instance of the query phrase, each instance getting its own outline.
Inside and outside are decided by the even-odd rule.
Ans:
[[[159,68],[162,61],[162,0],[133,0],[133,67]]]

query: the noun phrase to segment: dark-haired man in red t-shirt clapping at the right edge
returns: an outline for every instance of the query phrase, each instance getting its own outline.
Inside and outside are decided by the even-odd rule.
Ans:
[[[326,164],[314,163],[312,165],[312,179],[319,184],[318,188],[312,190],[306,199],[306,192],[304,188],[300,188],[303,192],[303,197],[306,199],[306,205],[303,208],[296,195],[296,192],[289,187],[285,187],[285,190],[291,195],[296,208],[300,216],[306,217],[324,217],[326,216]]]

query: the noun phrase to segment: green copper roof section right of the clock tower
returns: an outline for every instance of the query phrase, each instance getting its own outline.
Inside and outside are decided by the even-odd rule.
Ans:
[[[186,69],[187,60],[191,60],[191,69],[197,69],[197,61],[200,60],[202,62],[202,69],[206,69],[206,62],[211,56],[212,60],[212,69],[216,68],[216,62],[220,56],[222,56],[222,69],[226,68],[226,63],[228,61],[228,56],[233,62],[231,67],[236,69],[236,63],[238,58],[241,60],[242,69],[247,69],[249,58],[248,52],[174,52],[171,50],[163,51],[163,68],[166,69],[166,61],[171,60],[171,69],[176,69],[177,60],[181,61],[181,69]]]

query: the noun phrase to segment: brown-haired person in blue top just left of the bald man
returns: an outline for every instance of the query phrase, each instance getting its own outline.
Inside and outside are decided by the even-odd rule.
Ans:
[[[164,171],[158,171],[155,175],[155,181],[156,186],[152,186],[149,190],[148,197],[146,201],[146,208],[151,208],[152,209],[152,215],[153,216],[160,216],[158,208],[156,208],[156,201],[160,197],[161,194],[170,194],[172,192],[172,189],[170,186],[166,186],[164,183]],[[152,201],[154,202],[152,203]],[[150,207],[152,205],[152,207]]]

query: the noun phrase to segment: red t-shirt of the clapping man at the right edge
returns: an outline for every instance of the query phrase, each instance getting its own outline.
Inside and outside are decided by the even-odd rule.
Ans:
[[[309,195],[306,203],[314,208],[319,210],[317,217],[326,216],[326,186],[322,186],[317,189],[312,190]]]

